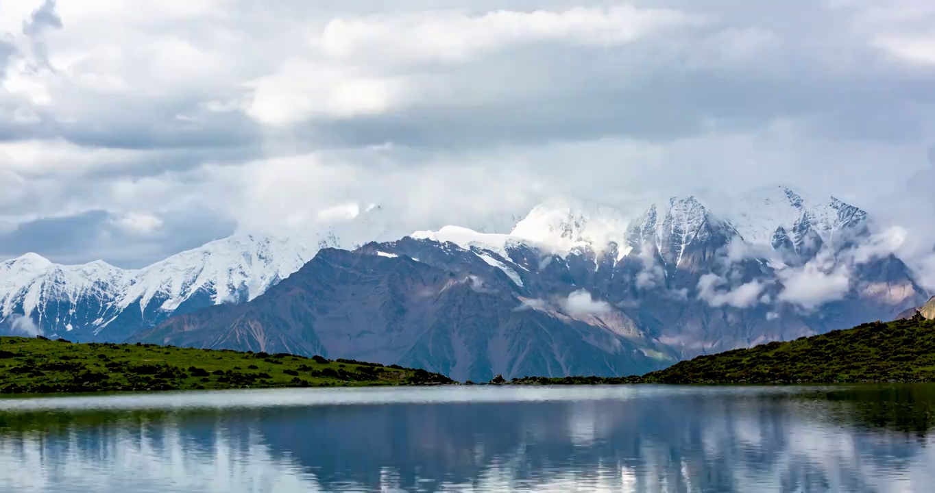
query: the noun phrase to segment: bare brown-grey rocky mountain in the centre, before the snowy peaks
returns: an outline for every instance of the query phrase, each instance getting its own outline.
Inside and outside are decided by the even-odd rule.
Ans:
[[[401,243],[445,257],[437,244]],[[136,339],[386,361],[474,381],[640,373],[673,360],[632,324],[622,330],[623,314],[595,318],[524,304],[522,289],[476,256],[453,270],[376,248],[324,249],[252,303],[174,317]]]

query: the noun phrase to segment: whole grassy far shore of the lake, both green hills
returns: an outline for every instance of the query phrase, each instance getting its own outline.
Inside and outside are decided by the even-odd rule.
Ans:
[[[935,382],[935,320],[871,322],[620,377],[497,376],[481,385],[828,385]],[[440,373],[349,359],[162,345],[0,337],[0,397],[161,390],[457,384]],[[468,382],[468,385],[471,382]]]

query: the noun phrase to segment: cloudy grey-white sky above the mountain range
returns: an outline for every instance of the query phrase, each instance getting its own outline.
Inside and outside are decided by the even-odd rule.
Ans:
[[[931,26],[930,0],[0,0],[0,259],[781,183],[935,273]]]

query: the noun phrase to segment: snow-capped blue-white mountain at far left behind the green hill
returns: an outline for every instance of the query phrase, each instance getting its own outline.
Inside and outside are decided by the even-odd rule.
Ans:
[[[119,341],[166,317],[250,301],[313,256],[305,246],[232,236],[139,270],[59,265],[36,254],[0,263],[0,328],[22,316],[47,335]]]

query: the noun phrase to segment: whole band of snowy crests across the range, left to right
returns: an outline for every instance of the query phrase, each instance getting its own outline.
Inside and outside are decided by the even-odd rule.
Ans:
[[[603,252],[615,252],[620,261],[635,248],[652,246],[664,267],[673,269],[690,248],[708,245],[712,236],[719,241],[739,236],[745,243],[777,251],[782,247],[806,259],[814,247],[846,236],[843,232],[860,232],[867,219],[864,211],[833,197],[803,198],[785,187],[755,190],[741,198],[672,197],[626,210],[555,199],[533,207],[520,220],[503,214],[438,231],[412,232],[402,218],[379,205],[344,209],[338,220],[303,238],[237,234],[138,270],[103,261],[58,265],[36,254],[4,261],[0,325],[25,314],[53,332],[92,328],[96,335],[111,324],[158,323],[179,310],[252,301],[323,247],[354,249],[373,241],[395,241],[410,232],[412,238],[450,242],[472,251],[522,287],[523,277],[517,273],[527,268],[511,261],[511,252],[521,246],[563,259],[594,255],[595,269]]]

